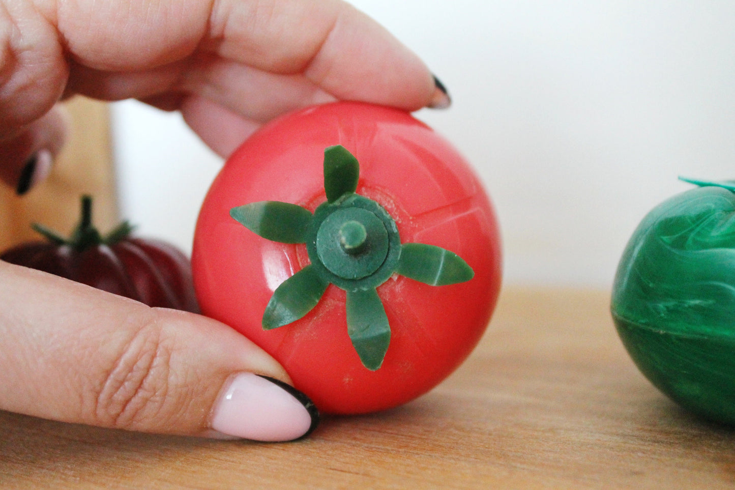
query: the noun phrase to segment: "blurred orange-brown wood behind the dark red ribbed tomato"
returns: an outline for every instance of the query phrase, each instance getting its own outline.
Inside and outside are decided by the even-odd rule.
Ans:
[[[31,223],[46,224],[63,235],[79,221],[79,198],[95,198],[94,222],[103,232],[118,219],[107,104],[77,96],[65,107],[71,116],[69,138],[49,178],[25,196],[0,186],[0,250],[38,240]]]

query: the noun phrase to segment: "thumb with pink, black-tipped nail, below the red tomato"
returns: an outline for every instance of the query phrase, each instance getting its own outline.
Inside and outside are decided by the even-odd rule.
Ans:
[[[2,261],[0,335],[2,410],[259,441],[318,423],[279,363],[226,325]]]

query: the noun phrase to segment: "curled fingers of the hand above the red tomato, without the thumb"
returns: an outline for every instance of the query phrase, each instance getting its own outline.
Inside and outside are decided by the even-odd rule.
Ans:
[[[57,102],[76,93],[180,110],[222,156],[264,122],[310,104],[450,103],[415,54],[340,0],[0,5],[0,178],[18,186],[26,162],[42,160],[25,168],[23,191],[48,173],[65,131]]]

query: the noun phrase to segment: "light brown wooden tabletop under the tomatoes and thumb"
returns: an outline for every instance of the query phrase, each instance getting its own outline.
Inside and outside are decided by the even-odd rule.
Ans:
[[[656,391],[600,291],[507,288],[483,341],[401,408],[260,444],[0,412],[1,489],[733,489],[735,430]]]

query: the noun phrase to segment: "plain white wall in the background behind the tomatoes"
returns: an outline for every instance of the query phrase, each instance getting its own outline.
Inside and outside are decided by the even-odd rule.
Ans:
[[[735,2],[356,0],[453,97],[417,117],[476,166],[505,282],[609,288],[679,174],[735,178]],[[124,216],[189,251],[221,160],[179,116],[113,108]]]

